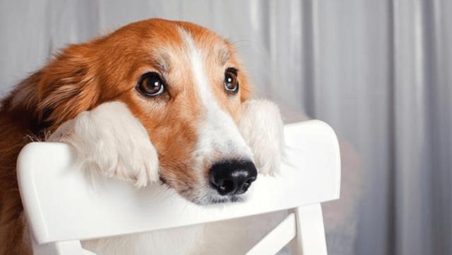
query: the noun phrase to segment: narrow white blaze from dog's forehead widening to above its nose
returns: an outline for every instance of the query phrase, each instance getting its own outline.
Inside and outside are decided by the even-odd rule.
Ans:
[[[204,72],[203,58],[206,54],[196,47],[189,32],[181,29],[180,34],[189,48],[191,71],[194,75],[198,96],[206,110],[206,116],[203,116],[198,131],[195,151],[198,162],[209,160],[209,156],[213,156],[214,152],[219,153],[224,159],[247,158],[252,160],[251,149],[244,141],[232,116],[223,111],[215,101],[215,95],[210,89],[208,77]]]

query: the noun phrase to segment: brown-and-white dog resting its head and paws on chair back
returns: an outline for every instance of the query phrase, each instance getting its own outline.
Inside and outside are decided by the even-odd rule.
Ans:
[[[232,43],[162,19],[68,46],[3,99],[0,127],[0,254],[31,253],[16,180],[28,142],[66,142],[93,174],[161,182],[200,206],[244,200],[258,174],[278,171],[283,150],[278,107],[252,99]],[[85,245],[160,254],[149,235]]]

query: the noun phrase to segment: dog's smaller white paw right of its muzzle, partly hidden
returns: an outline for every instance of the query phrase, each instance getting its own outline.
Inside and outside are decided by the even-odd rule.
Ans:
[[[249,100],[242,108],[239,130],[251,147],[260,173],[277,173],[283,158],[283,119],[276,104]]]

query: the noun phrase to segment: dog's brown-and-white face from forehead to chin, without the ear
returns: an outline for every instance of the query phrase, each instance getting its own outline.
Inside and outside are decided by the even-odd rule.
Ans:
[[[249,85],[232,46],[188,23],[159,20],[125,32],[132,35],[121,39],[137,43],[124,45],[133,66],[119,99],[148,130],[161,179],[201,204],[245,192],[256,169],[237,123]]]

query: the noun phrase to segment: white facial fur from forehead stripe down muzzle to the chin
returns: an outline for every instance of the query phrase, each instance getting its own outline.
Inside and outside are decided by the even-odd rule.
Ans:
[[[198,127],[198,141],[194,149],[196,169],[198,169],[198,196],[195,198],[198,204],[209,203],[211,199],[220,197],[213,190],[208,181],[203,177],[203,166],[206,163],[213,164],[215,160],[229,158],[244,158],[253,160],[253,154],[248,144],[240,134],[237,124],[234,123],[230,113],[222,110],[216,101],[211,89],[208,75],[205,73],[204,62],[208,52],[202,51],[196,45],[189,32],[179,29],[185,46],[186,54],[190,60],[191,73],[193,73],[196,92],[203,104],[203,113]]]

